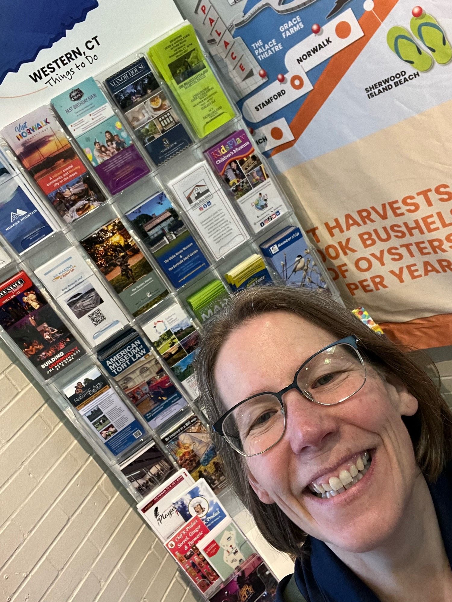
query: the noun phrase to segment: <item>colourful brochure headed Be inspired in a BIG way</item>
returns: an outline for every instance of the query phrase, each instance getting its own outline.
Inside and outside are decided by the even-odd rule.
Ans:
[[[226,485],[221,461],[204,424],[194,414],[162,436],[162,441],[181,468],[193,479],[206,479],[215,493]]]

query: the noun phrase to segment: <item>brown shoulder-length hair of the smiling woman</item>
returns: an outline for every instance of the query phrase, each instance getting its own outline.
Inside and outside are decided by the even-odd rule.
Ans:
[[[419,409],[404,418],[413,442],[416,461],[430,481],[435,481],[452,457],[452,415],[432,378],[433,362],[425,356],[407,355],[386,336],[371,330],[347,308],[318,291],[271,285],[236,293],[223,311],[207,324],[201,336],[195,370],[201,402],[210,424],[225,408],[216,388],[214,371],[219,350],[233,330],[253,317],[271,311],[287,311],[328,330],[337,340],[356,335],[360,351],[377,368],[399,376],[416,397]],[[421,366],[421,364],[424,364]],[[263,504],[248,482],[246,463],[224,438],[213,433],[225,473],[243,504],[250,510],[265,539],[278,550],[301,556],[304,533],[276,504]]]

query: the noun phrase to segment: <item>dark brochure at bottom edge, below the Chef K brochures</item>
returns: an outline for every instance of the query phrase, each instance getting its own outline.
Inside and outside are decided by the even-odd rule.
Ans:
[[[268,566],[260,556],[253,554],[240,566],[238,573],[222,583],[210,602],[274,602],[277,586],[278,582]]]

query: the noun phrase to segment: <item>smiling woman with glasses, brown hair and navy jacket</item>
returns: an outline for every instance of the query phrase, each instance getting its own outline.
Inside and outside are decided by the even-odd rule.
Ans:
[[[452,600],[451,414],[419,360],[316,291],[256,287],[196,371],[237,495],[297,556],[278,600]]]

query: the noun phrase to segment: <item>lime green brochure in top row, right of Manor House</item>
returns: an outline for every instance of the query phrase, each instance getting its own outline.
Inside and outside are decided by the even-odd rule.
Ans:
[[[199,138],[233,119],[234,109],[202,54],[192,25],[187,23],[153,44],[148,57]]]

